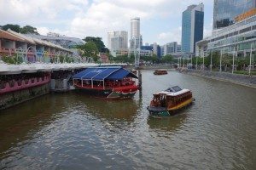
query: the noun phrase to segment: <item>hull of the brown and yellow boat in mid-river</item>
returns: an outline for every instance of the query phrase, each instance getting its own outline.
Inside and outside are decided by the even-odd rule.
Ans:
[[[154,107],[154,106],[148,106],[149,116],[152,117],[164,117],[164,116],[174,116],[177,113],[179,113],[180,110],[183,108],[191,105],[195,99],[188,99],[184,101],[180,105],[176,105],[172,108],[166,108],[166,107]]]

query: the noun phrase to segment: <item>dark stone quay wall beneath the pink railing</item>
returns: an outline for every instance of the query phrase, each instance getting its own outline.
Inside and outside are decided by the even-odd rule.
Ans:
[[[2,94],[0,96],[0,110],[18,105],[26,100],[33,99],[44,94],[49,94],[49,92],[49,83],[47,83],[42,86],[25,88],[19,91]]]

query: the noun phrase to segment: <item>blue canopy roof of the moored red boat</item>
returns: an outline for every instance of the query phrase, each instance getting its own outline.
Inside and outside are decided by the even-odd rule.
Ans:
[[[137,78],[132,72],[120,66],[114,67],[89,67],[73,76],[73,79],[81,80],[122,80],[124,77]]]

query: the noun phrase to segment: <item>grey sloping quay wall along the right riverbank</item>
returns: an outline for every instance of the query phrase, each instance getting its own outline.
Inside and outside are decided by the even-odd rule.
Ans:
[[[197,77],[206,77],[214,80],[231,82],[243,86],[247,86],[250,88],[256,88],[256,77],[248,76],[248,75],[238,75],[231,74],[228,72],[218,72],[218,71],[197,71],[197,70],[178,70],[185,74],[194,75]]]

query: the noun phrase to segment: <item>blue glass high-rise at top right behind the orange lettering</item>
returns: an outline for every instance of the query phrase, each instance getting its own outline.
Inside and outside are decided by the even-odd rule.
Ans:
[[[235,24],[237,15],[256,8],[255,0],[214,0],[213,30]]]

